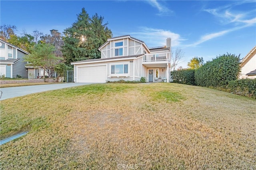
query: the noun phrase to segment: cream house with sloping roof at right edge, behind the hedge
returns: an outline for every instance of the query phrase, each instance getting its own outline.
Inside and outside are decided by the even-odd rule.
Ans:
[[[242,59],[240,79],[256,78],[256,46]]]

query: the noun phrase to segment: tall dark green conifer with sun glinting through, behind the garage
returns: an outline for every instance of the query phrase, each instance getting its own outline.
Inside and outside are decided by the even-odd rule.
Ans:
[[[77,15],[77,21],[64,30],[62,53],[68,65],[73,61],[100,58],[98,48],[112,37],[108,23],[103,24],[103,20],[104,17],[98,14],[90,18],[82,8],[82,12]]]

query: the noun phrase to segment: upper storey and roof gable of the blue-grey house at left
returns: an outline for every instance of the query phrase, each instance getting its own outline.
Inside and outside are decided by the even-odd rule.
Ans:
[[[28,54],[27,51],[12,45],[11,43],[0,40],[0,59],[21,59],[24,55]]]

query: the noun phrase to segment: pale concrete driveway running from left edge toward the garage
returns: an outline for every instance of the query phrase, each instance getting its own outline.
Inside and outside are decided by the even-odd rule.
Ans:
[[[61,83],[61,84],[48,84],[48,85],[29,85],[20,87],[5,87],[0,88],[3,92],[0,100],[9,99],[12,97],[19,97],[24,95],[29,95],[32,93],[39,93],[43,91],[63,89],[67,87],[74,87],[80,85],[89,85],[94,83]]]

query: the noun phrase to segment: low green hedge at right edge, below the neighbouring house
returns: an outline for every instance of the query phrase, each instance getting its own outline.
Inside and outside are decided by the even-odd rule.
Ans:
[[[256,99],[256,79],[239,79],[230,81],[226,86],[230,93]]]

